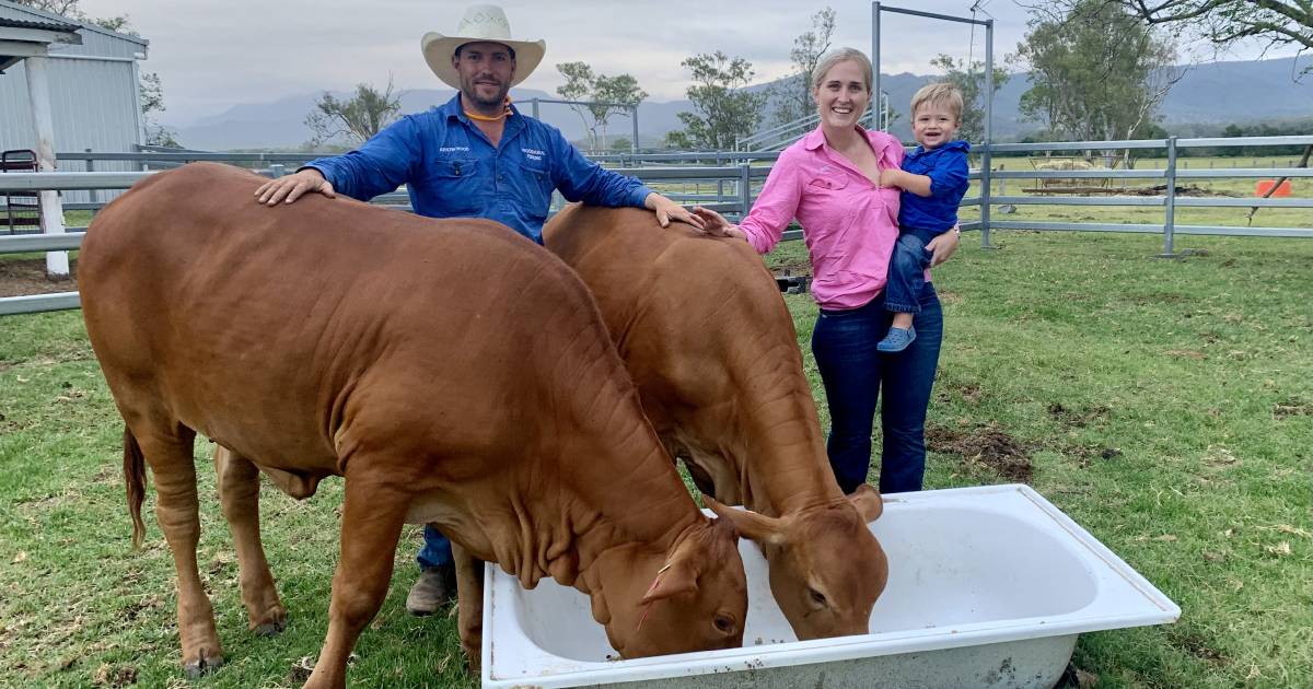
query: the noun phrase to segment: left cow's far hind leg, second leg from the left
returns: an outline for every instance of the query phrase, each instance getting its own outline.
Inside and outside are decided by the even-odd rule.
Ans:
[[[278,600],[260,542],[260,470],[246,457],[215,445],[214,474],[218,476],[223,516],[232,529],[232,545],[238,551],[242,602],[249,629],[263,637],[277,634],[288,623],[288,610]]]

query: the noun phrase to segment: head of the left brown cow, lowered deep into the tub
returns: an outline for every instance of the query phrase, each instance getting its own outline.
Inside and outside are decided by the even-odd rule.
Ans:
[[[738,534],[699,517],[668,553],[609,551],[593,617],[624,658],[737,648],[747,619]]]

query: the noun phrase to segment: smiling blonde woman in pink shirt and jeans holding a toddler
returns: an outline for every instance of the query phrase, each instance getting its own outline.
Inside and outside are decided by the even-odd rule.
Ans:
[[[928,276],[916,339],[897,354],[876,352],[889,332],[884,287],[898,239],[898,197],[880,184],[895,171],[902,144],[857,125],[871,102],[871,60],[853,49],[825,54],[811,73],[821,126],[780,154],[752,211],[733,226],[718,213],[695,209],[710,234],[746,239],[767,253],[793,218],[811,257],[811,295],[821,307],[811,352],[830,404],[830,466],[843,492],[865,482],[871,428],[880,387],[884,451],[880,492],[919,491],[926,470],[926,408],[939,365],[944,319]],[[931,265],[957,249],[957,231],[926,245]]]

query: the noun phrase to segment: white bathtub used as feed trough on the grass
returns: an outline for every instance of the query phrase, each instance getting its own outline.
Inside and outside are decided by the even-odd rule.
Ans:
[[[871,524],[889,585],[871,633],[798,642],[742,541],[743,648],[635,660],[614,651],[588,598],[486,570],[483,686],[1049,688],[1075,638],[1174,622],[1180,608],[1027,486],[886,496]]]

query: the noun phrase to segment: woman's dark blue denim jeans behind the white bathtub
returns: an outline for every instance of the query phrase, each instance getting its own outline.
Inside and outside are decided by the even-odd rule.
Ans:
[[[892,316],[884,293],[859,308],[821,310],[811,332],[825,396],[830,404],[830,466],[844,493],[867,480],[871,469],[871,430],[884,386],[880,423],[884,448],[880,492],[919,491],[926,474],[926,409],[939,366],[944,312],[935,286],[924,283],[920,312],[913,320],[916,339],[898,353],[876,350],[889,332]]]

